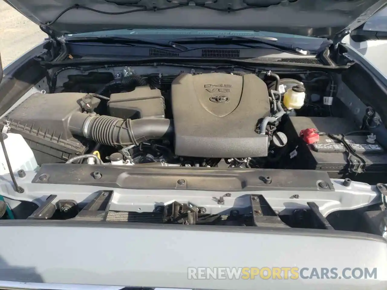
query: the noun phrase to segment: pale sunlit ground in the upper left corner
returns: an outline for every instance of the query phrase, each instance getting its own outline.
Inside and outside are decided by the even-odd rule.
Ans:
[[[46,37],[47,34],[38,25],[0,0],[0,52],[3,67]]]

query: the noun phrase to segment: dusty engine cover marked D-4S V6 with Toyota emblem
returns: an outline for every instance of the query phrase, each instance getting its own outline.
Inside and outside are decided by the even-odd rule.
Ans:
[[[264,81],[254,74],[184,73],[172,82],[175,154],[192,157],[265,157],[267,135],[255,133],[270,116]]]

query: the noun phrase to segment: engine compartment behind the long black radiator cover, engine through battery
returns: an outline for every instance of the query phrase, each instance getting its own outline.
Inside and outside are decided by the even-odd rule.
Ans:
[[[377,127],[377,113],[367,108],[360,125],[348,118],[329,73],[69,69],[3,121],[38,165],[314,169],[371,183],[387,171],[366,128]]]

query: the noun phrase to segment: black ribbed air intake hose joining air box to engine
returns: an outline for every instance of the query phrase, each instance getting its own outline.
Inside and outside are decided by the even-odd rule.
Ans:
[[[139,145],[150,139],[171,138],[173,122],[169,119],[123,120],[111,116],[75,113],[69,122],[70,131],[108,146]]]

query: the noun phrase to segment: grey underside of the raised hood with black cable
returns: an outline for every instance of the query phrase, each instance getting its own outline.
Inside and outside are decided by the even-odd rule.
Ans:
[[[386,0],[5,0],[49,34],[132,28],[262,30],[334,38]]]

